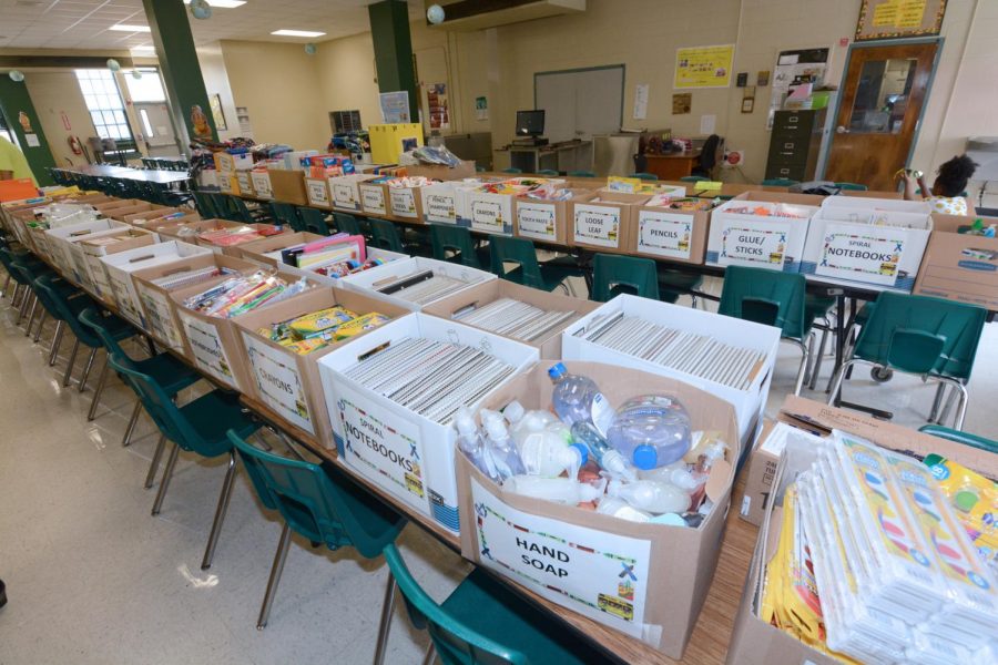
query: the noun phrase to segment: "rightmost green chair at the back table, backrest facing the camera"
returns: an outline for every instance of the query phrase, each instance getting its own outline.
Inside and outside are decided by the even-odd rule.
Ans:
[[[969,399],[965,383],[974,369],[987,314],[987,309],[976,305],[883,291],[859,331],[851,357],[835,375],[828,403],[838,403],[849,368],[865,364],[872,366],[875,375],[888,369],[951,387],[954,395],[959,396],[954,428],[963,429]],[[945,388],[936,391],[929,415],[929,420],[939,424],[950,407],[947,401],[939,412],[944,393]]]

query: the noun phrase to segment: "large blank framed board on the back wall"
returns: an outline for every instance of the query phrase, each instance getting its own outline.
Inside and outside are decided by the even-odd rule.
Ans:
[[[551,143],[614,134],[623,121],[622,64],[533,75],[534,109],[544,110]]]

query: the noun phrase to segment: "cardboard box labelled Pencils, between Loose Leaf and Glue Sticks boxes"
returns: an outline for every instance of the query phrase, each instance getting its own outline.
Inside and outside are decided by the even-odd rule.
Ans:
[[[639,256],[701,265],[710,225],[710,209],[686,213],[642,205],[628,246]]]

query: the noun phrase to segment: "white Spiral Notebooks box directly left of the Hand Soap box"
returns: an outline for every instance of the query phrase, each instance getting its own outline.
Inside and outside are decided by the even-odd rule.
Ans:
[[[537,361],[537,349],[417,313],[344,344],[318,361],[333,438],[347,470],[457,533],[457,431],[450,424],[440,424],[406,409],[343,374],[375,349],[406,338],[488,348],[517,372]],[[476,409],[487,398],[488,395],[483,396],[470,407]]]

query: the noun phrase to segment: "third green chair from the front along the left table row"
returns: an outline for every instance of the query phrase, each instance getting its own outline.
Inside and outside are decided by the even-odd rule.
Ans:
[[[166,468],[163,470],[160,490],[156,492],[156,500],[153,503],[153,515],[160,514],[160,509],[163,507],[163,499],[166,498],[166,489],[170,487],[170,479],[173,477],[181,448],[210,459],[228,456],[228,469],[225,472],[225,480],[222,482],[222,492],[215,508],[212,531],[208,534],[207,548],[201,562],[201,569],[207,570],[215,555],[215,545],[228,510],[228,499],[232,495],[232,485],[235,480],[235,450],[226,437],[226,432],[234,430],[240,437],[246,438],[259,429],[259,424],[243,412],[236,392],[212,390],[177,407],[166,390],[151,376],[130,368],[131,364],[123,361],[120,357],[112,356],[109,362],[111,369],[126,377],[125,380],[139,392],[142,406],[160,428],[160,433],[165,439],[173,441],[173,449],[166,459]],[[152,471],[155,472],[155,469],[153,468]]]

